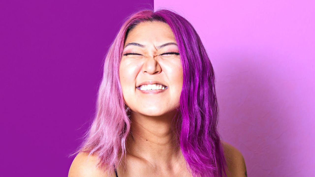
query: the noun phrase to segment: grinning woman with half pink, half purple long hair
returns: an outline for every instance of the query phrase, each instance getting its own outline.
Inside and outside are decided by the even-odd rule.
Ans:
[[[206,50],[175,12],[127,18],[106,55],[97,103],[69,177],[246,176],[242,154],[217,132]]]

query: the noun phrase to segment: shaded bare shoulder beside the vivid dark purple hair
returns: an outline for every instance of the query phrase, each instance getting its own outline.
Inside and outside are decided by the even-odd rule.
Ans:
[[[222,144],[228,168],[228,172],[226,171],[227,176],[246,177],[247,171],[245,159],[242,153],[237,148],[235,148],[234,146],[225,141],[222,141]]]

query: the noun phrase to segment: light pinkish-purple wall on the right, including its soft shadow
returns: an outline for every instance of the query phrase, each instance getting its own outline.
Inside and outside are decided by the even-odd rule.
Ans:
[[[186,17],[217,75],[219,130],[248,176],[315,176],[314,1],[155,0]]]

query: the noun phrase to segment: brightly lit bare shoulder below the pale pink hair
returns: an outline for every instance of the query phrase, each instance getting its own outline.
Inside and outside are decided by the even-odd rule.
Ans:
[[[98,159],[95,155],[80,152],[72,161],[68,177],[112,177],[97,167]]]

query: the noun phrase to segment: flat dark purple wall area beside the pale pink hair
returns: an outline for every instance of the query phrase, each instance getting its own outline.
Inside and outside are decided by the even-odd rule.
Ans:
[[[0,176],[67,176],[94,114],[103,56],[153,0],[0,3]]]

